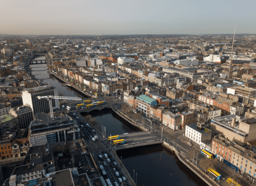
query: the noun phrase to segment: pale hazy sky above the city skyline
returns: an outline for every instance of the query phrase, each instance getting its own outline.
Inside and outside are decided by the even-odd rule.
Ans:
[[[256,0],[0,0],[0,33],[256,33]]]

